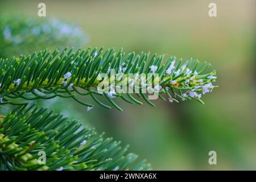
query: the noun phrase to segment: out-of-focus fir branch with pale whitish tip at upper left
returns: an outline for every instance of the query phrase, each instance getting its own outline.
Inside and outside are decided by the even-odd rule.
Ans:
[[[84,46],[88,36],[81,27],[59,19],[0,15],[0,57],[18,56],[48,48]]]

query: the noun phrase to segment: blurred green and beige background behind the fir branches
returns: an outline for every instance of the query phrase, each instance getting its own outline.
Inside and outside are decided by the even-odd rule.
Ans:
[[[2,0],[0,12],[36,18],[40,2]],[[153,108],[120,102],[123,112],[98,105],[87,112],[68,99],[45,105],[129,143],[130,151],[157,170],[256,169],[254,0],[43,2],[46,18],[80,24],[90,36],[84,47],[209,61],[219,85],[203,97],[205,105],[158,100]],[[217,4],[217,17],[208,16],[210,2]],[[217,152],[217,165],[208,163],[211,150]]]

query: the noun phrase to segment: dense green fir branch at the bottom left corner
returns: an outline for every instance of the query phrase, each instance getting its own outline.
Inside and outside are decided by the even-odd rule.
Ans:
[[[150,169],[120,143],[45,108],[19,106],[0,118],[0,169]],[[39,151],[46,152],[46,164],[38,163]]]

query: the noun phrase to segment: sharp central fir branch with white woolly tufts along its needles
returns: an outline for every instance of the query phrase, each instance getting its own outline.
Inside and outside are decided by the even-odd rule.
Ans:
[[[110,104],[118,110],[122,110],[114,101],[114,97],[122,98],[131,104],[142,104],[138,99],[143,98],[151,106],[155,106],[145,93],[142,92],[145,86],[151,92],[159,94],[159,97],[166,100],[162,95],[166,94],[170,102],[179,100],[191,100],[196,98],[201,103],[201,94],[212,91],[215,86],[212,82],[216,80],[216,71],[205,73],[209,64],[199,65],[199,61],[189,59],[181,65],[181,59],[176,61],[174,56],[169,57],[165,64],[162,64],[164,55],[153,55],[149,58],[149,53],[134,52],[123,53],[122,49],[115,53],[114,49],[103,48],[97,50],[79,49],[73,52],[65,48],[59,53],[56,49],[52,53],[47,50],[33,53],[28,56],[14,57],[11,60],[0,60],[0,104],[22,105],[27,102],[16,102],[20,100],[51,99],[54,97],[73,98],[82,105],[93,107],[92,104],[80,101],[77,94],[81,96],[91,96],[94,101],[103,107],[111,107],[103,104],[97,96],[104,96]],[[176,62],[177,63],[176,63]],[[114,75],[110,75],[110,69],[114,69]],[[115,77],[114,83],[109,83],[109,88],[118,84],[129,84],[134,82],[133,89],[139,90],[138,98],[134,98],[130,93],[102,93],[97,92],[98,85],[104,81],[98,78],[100,73]],[[125,79],[118,75],[123,73]],[[133,73],[134,76],[130,77]],[[151,73],[153,83],[156,80],[159,85],[151,88],[148,78],[141,77],[142,73]],[[126,96],[127,97],[126,97]]]

